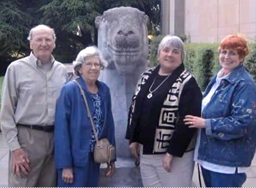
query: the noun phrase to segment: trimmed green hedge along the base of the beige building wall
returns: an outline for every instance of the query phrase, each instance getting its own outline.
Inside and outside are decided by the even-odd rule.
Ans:
[[[163,37],[155,37],[151,41],[150,66],[158,65],[157,47]],[[218,43],[185,43],[185,67],[197,79],[201,90],[204,91],[211,77],[221,69],[219,65]],[[244,65],[256,82],[256,43],[249,43],[250,53]]]

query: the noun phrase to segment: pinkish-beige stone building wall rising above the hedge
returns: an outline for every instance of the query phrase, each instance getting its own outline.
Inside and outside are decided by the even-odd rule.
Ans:
[[[191,42],[219,42],[228,34],[256,36],[256,0],[185,0]]]

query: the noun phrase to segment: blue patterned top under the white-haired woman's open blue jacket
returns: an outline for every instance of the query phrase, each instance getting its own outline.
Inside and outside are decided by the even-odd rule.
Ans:
[[[103,128],[104,116],[101,110],[101,97],[98,93],[90,93],[91,99],[93,100],[93,123],[97,134],[99,135]],[[93,151],[95,145],[95,136],[93,129],[91,129],[91,140],[90,140],[90,151]]]

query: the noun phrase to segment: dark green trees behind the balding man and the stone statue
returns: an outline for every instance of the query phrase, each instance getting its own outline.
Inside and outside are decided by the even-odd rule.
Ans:
[[[160,0],[1,0],[0,75],[13,54],[21,57],[30,53],[26,38],[36,25],[54,28],[57,41],[53,55],[66,63],[73,61],[81,49],[97,43],[94,19],[103,11],[119,6],[135,7],[149,15],[149,33],[158,34],[160,4]]]

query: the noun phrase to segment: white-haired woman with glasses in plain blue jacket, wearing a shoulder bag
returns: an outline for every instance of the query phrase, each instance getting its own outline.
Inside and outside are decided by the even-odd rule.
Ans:
[[[58,186],[97,187],[100,163],[94,162],[95,136],[78,85],[85,93],[98,139],[107,138],[115,146],[109,87],[98,81],[105,60],[97,47],[90,46],[79,52],[73,65],[78,78],[63,87],[55,114]],[[106,176],[114,171],[115,159],[107,164]]]

